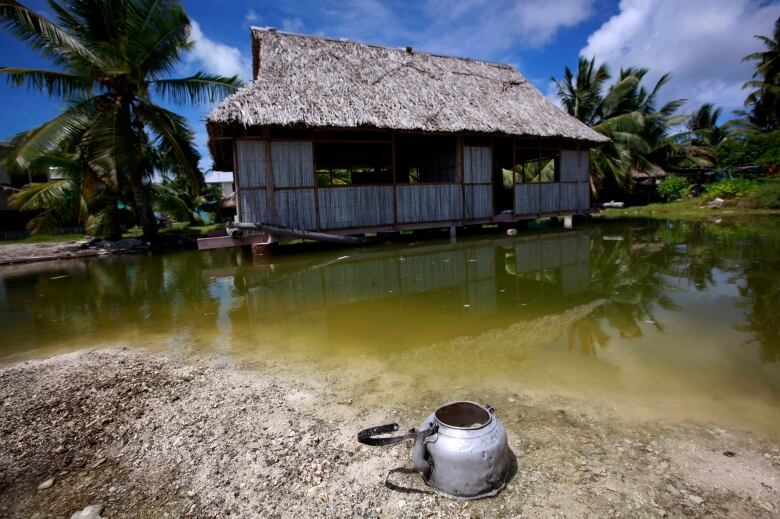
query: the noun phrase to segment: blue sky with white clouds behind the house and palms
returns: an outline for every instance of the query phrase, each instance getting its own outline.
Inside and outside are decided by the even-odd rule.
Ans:
[[[22,0],[47,12],[43,0]],[[621,66],[664,72],[672,82],[663,100],[688,99],[685,111],[714,102],[740,108],[740,85],[752,73],[740,58],[760,49],[754,34],[771,34],[780,1],[765,0],[186,0],[195,49],[180,75],[196,70],[239,74],[249,80],[249,26],[306,34],[412,45],[419,51],[509,63],[543,93],[553,96],[550,76],[561,77],[579,55],[595,56],[617,73]],[[48,64],[0,32],[0,66]],[[60,100],[0,80],[0,139],[34,127],[60,109]],[[203,118],[209,106],[177,108],[205,148]]]

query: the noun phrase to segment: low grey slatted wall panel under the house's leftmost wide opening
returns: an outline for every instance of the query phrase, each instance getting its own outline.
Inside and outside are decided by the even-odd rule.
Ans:
[[[393,223],[392,186],[322,187],[318,194],[323,229]]]

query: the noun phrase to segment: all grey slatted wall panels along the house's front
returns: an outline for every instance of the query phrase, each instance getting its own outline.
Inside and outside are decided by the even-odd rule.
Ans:
[[[271,154],[266,151],[270,148]],[[463,148],[464,184],[399,184],[397,215],[393,188],[386,186],[315,189],[310,141],[238,140],[236,173],[238,213],[242,221],[299,229],[347,229],[429,222],[458,222],[493,215],[492,150]],[[271,168],[274,193],[266,195]],[[559,183],[518,184],[518,216],[582,212],[590,205],[588,152],[562,150]],[[308,189],[307,189],[308,188]],[[273,204],[273,210],[270,209]],[[319,223],[318,223],[319,220]]]

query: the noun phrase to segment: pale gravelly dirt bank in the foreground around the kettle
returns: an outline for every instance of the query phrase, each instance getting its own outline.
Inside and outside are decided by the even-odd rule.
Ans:
[[[3,368],[0,516],[70,517],[90,505],[110,518],[773,517],[780,508],[780,448],[769,439],[502,393],[486,397],[519,467],[498,497],[391,490],[385,477],[409,463],[408,447],[364,447],[354,433],[416,423],[446,395],[367,409],[338,387],[264,365],[126,351]],[[413,475],[392,478],[426,492]]]

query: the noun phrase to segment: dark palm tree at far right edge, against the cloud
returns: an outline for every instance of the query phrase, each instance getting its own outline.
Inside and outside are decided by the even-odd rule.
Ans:
[[[750,107],[748,120],[761,131],[780,128],[780,17],[775,20],[772,37],[755,35],[765,51],[748,54],[742,61],[757,61],[753,79],[742,88],[753,89],[745,100]]]

